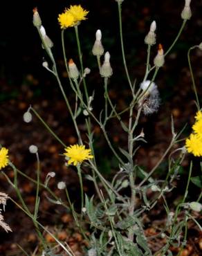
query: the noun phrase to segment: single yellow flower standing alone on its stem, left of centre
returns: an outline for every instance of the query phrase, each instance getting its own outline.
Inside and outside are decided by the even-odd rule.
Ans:
[[[84,160],[93,158],[91,155],[91,149],[85,149],[84,145],[71,145],[70,147],[66,147],[64,150],[66,151],[64,155],[69,158],[68,165],[71,163],[73,163],[73,165],[77,165],[78,163],[82,163]]]

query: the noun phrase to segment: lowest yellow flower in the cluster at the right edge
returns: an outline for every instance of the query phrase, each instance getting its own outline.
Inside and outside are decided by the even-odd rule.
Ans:
[[[185,147],[187,152],[194,156],[202,156],[202,139],[197,134],[191,134],[190,138],[186,139]]]

